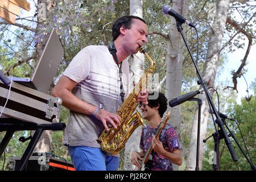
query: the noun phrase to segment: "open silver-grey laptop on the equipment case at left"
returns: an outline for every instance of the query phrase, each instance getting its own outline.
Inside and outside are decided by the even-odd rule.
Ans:
[[[53,28],[32,78],[13,77],[13,81],[40,92],[47,93],[56,75],[63,53],[64,51],[61,47],[59,36],[55,28]],[[11,80],[11,77],[9,77],[9,79]]]

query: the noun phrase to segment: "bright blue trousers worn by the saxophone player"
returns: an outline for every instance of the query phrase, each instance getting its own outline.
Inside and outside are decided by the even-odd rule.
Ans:
[[[100,148],[68,146],[76,171],[117,171],[119,158],[104,154]]]

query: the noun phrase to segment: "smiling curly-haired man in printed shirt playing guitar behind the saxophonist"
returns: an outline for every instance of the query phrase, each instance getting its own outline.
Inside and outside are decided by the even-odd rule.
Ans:
[[[150,95],[158,98],[150,100]],[[175,129],[168,123],[158,138],[155,138],[156,130],[161,122],[164,112],[167,110],[167,98],[163,93],[148,94],[148,105],[139,105],[143,118],[147,119],[148,124],[142,129],[140,148],[141,152],[133,151],[131,154],[131,163],[138,168],[141,166],[139,160],[143,160],[144,154],[152,140],[152,152],[148,161],[145,163],[145,170],[150,171],[172,171],[172,163],[180,166],[182,156]],[[143,165],[143,164],[142,164]]]

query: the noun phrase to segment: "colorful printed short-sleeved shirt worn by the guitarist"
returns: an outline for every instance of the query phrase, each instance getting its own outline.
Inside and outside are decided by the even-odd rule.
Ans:
[[[151,128],[150,125],[146,125],[146,127],[142,129],[141,143],[139,147],[142,148],[144,152],[147,151],[152,140],[152,135],[155,135],[157,129],[158,127]],[[172,151],[174,148],[178,148],[180,150],[176,131],[168,123],[160,133],[159,141],[163,143],[164,148],[170,148],[170,151]],[[152,150],[151,154],[152,165],[150,171],[172,171],[172,163],[165,159],[163,155],[156,153],[154,150]]]

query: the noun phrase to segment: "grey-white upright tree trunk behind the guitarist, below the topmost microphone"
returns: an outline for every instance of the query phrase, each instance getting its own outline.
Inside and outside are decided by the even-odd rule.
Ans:
[[[178,14],[186,17],[188,11],[188,0],[175,0],[172,1],[172,9]],[[184,31],[185,32],[185,31]],[[177,31],[176,20],[171,18],[170,32],[168,33],[167,40],[167,76],[166,76],[166,97],[170,101],[181,94],[181,83],[182,83],[182,63],[183,63],[183,50],[184,43]],[[168,106],[170,109],[170,106]],[[180,124],[181,124],[181,106],[177,105],[172,107],[170,119],[168,123],[172,125],[178,135],[180,141]],[[182,148],[181,148],[182,150]],[[179,168],[173,164],[174,170],[177,171]]]

